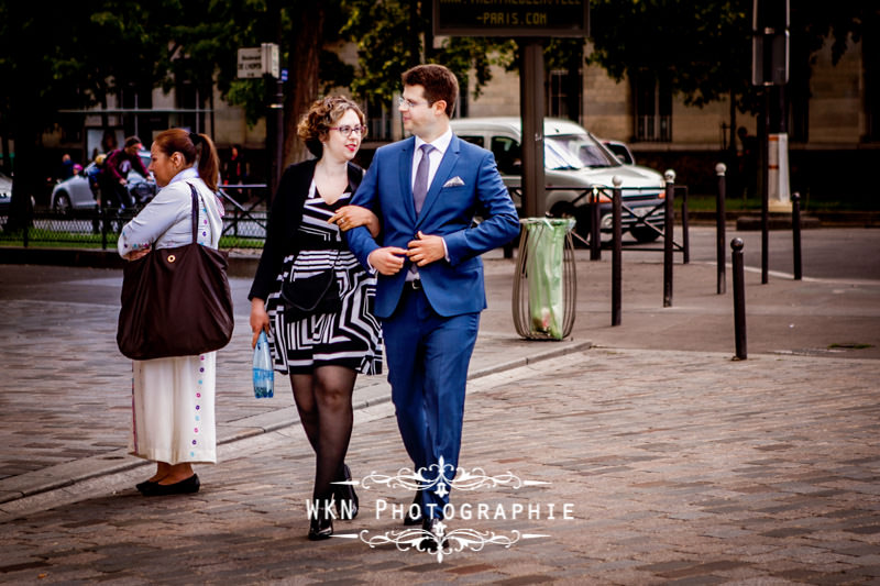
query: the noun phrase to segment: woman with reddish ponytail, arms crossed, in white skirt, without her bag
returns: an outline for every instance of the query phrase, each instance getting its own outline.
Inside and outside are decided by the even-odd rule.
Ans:
[[[119,254],[135,261],[155,250],[190,244],[194,190],[196,240],[217,248],[222,209],[215,195],[219,159],[211,139],[166,130],[155,137],[151,155],[150,170],[162,189],[122,229]],[[200,483],[193,464],[217,462],[215,357],[216,352],[205,352],[133,361],[129,450],[156,462],[155,474],[138,485],[144,496],[197,493]]]

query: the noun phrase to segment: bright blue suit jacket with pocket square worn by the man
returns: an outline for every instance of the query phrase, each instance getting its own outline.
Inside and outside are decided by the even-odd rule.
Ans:
[[[425,295],[443,317],[482,311],[486,307],[480,255],[519,233],[516,209],[490,151],[452,136],[428,188],[421,212],[413,202],[413,154],[409,137],[376,151],[373,163],[352,198],[352,204],[373,210],[382,232],[373,239],[365,228],[346,232],[349,247],[365,267],[367,256],[382,246],[407,247],[418,231],[443,236],[449,261],[419,267]],[[474,217],[482,221],[472,225]],[[375,313],[394,313],[409,263],[396,275],[378,276]]]

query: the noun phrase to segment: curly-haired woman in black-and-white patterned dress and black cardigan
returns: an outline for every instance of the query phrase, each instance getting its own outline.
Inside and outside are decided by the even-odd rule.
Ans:
[[[364,114],[348,98],[316,101],[297,128],[318,157],[288,167],[272,204],[251,299],[254,344],[265,330],[275,371],[289,374],[297,410],[316,453],[308,538],[333,533],[332,509],[358,515],[344,464],[358,373],[382,372],[382,335],[373,317],[375,277],[348,250],[343,232],[366,225],[369,210],[348,206],[363,170],[351,161],[366,134]]]

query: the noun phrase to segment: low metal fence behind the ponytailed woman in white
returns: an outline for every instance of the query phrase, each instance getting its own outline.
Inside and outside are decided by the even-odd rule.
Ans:
[[[223,186],[223,233],[221,248],[262,248],[266,239],[265,185]],[[234,191],[233,189],[238,190]],[[234,194],[233,197],[231,194]],[[25,228],[8,230],[7,215],[0,214],[0,244],[19,246],[59,245],[85,248],[114,248],[122,226],[143,207],[97,208],[59,213],[36,210]]]

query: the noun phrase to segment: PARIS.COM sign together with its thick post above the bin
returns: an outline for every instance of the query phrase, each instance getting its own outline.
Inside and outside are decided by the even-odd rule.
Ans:
[[[588,0],[488,3],[485,0],[433,0],[435,36],[514,37],[522,48],[519,113],[522,128],[522,212],[544,214],[543,192],[543,40],[590,34]]]

